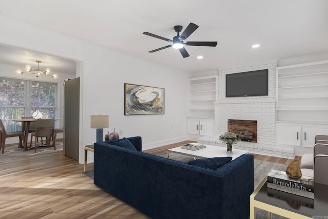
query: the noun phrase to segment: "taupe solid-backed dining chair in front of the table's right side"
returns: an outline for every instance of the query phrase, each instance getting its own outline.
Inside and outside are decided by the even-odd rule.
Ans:
[[[39,118],[35,122],[35,131],[31,132],[31,143],[30,143],[30,149],[32,148],[32,140],[33,136],[35,137],[34,141],[34,153],[36,153],[36,143],[37,143],[37,138],[38,137],[47,137],[47,146],[49,147],[50,145],[50,140],[52,138],[53,142],[53,147],[54,150],[56,150],[56,140],[55,140],[55,131],[54,131],[54,126],[55,126],[55,119],[54,118]]]

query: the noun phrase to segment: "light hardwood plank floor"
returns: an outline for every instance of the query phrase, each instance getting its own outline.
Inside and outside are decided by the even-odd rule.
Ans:
[[[146,150],[157,153],[190,141]],[[254,155],[262,161],[292,160]],[[93,164],[88,164],[88,170]],[[93,184],[84,166],[63,151],[0,155],[0,218],[148,218]]]

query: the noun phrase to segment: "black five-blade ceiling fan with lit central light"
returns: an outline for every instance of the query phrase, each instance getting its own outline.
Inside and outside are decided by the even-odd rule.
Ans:
[[[155,37],[155,38],[162,39],[163,41],[168,41],[168,42],[173,43],[172,45],[168,45],[168,46],[165,46],[165,47],[154,49],[154,50],[151,50],[149,52],[157,52],[157,51],[162,50],[162,49],[173,47],[175,49],[179,49],[179,51],[180,51],[181,55],[183,56],[183,58],[186,58],[186,57],[189,56],[189,54],[188,54],[187,50],[185,49],[185,47],[183,47],[183,45],[187,45],[187,46],[212,46],[212,47],[215,47],[217,45],[217,42],[193,42],[193,41],[188,41],[188,42],[184,43],[183,41],[185,41],[188,38],[188,36],[190,36],[197,28],[198,28],[198,25],[190,23],[188,25],[188,27],[185,29],[185,31],[183,31],[181,33],[181,35],[179,35],[179,33],[182,30],[182,26],[179,26],[179,25],[174,26],[173,29],[178,34],[173,37],[173,40],[162,37],[162,36],[158,36],[158,35],[155,35],[155,34],[152,34],[152,33],[149,33],[149,32],[144,32],[143,34],[149,35],[149,36],[152,36],[152,37]]]

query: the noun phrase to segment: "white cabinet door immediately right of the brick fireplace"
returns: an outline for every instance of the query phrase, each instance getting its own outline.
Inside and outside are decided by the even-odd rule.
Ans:
[[[276,125],[277,144],[301,146],[301,126],[291,124]]]

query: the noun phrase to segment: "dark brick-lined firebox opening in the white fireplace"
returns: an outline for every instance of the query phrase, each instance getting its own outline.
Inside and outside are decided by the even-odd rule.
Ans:
[[[228,120],[228,131],[235,133],[241,141],[257,143],[256,120]]]

